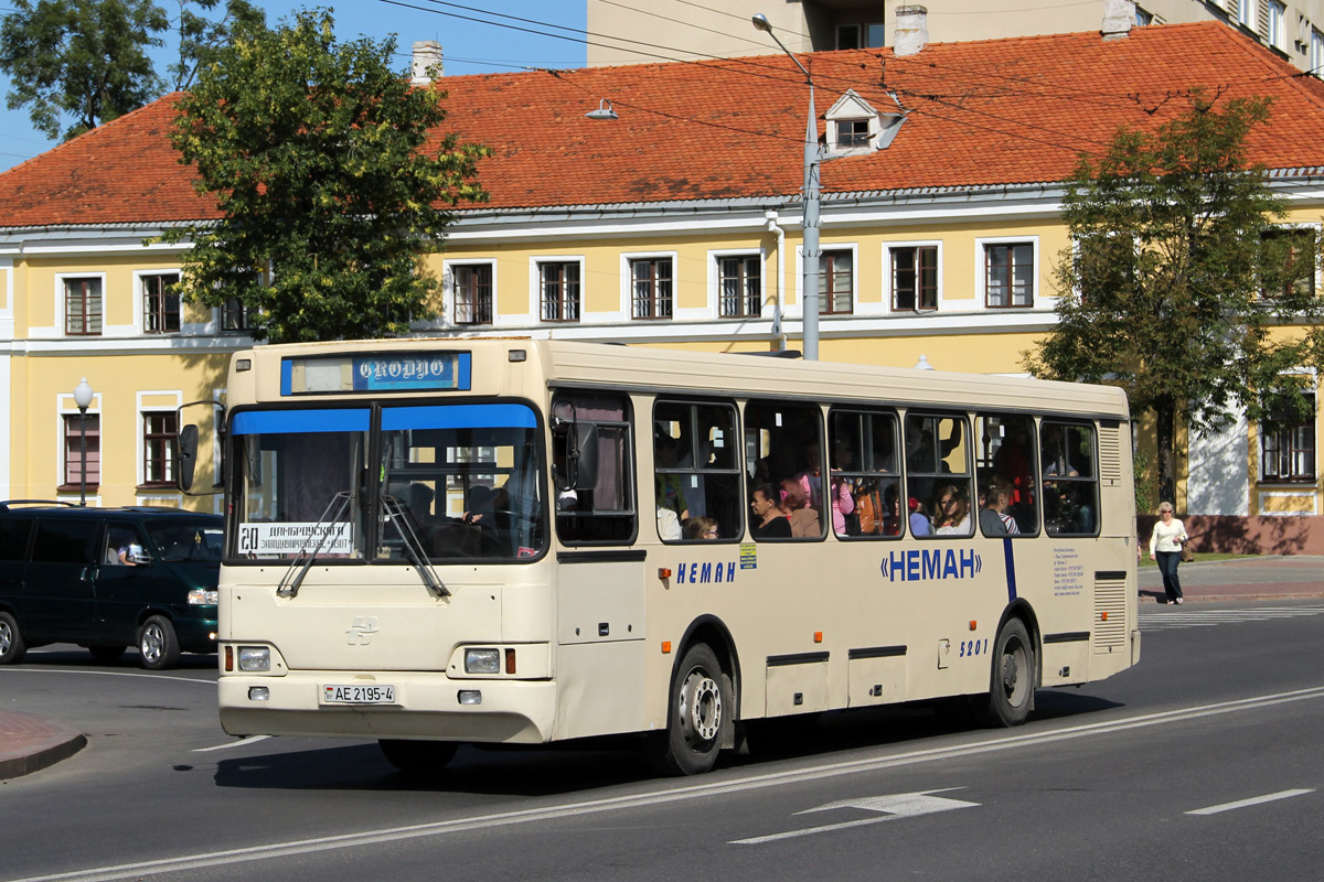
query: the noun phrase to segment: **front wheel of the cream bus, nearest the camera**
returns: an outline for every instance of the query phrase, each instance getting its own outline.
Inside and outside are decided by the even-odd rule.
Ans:
[[[716,653],[707,644],[694,644],[671,681],[666,731],[653,734],[654,767],[665,775],[702,775],[712,768],[733,710],[731,680]]]

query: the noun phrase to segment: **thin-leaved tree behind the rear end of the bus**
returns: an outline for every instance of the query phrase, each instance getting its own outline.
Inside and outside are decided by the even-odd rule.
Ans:
[[[1026,353],[1038,377],[1121,386],[1153,411],[1158,493],[1176,492],[1178,421],[1200,434],[1313,419],[1303,369],[1324,364],[1313,231],[1283,230],[1286,201],[1246,157],[1263,99],[1197,94],[1153,132],[1120,130],[1083,156],[1054,268],[1058,324]]]

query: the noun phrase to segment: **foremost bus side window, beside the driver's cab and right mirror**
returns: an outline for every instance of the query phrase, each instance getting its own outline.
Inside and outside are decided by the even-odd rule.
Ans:
[[[597,471],[571,477],[576,426],[597,426]],[[628,545],[636,536],[634,442],[629,399],[606,393],[563,393],[552,399],[552,499],[556,534],[565,545]],[[591,485],[585,489],[585,485]]]

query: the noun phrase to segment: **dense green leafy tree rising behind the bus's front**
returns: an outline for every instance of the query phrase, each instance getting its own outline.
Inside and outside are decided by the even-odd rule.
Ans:
[[[434,315],[418,258],[448,206],[486,198],[485,151],[433,138],[444,94],[391,70],[393,38],[336,44],[332,24],[324,11],[241,24],[179,103],[175,147],[224,216],[168,235],[193,242],[183,294],[237,299],[258,340],[406,333]]]

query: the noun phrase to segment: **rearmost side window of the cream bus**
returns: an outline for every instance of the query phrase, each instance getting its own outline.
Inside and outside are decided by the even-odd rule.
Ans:
[[[1045,530],[1049,536],[1098,534],[1094,426],[1045,419],[1041,438]]]

